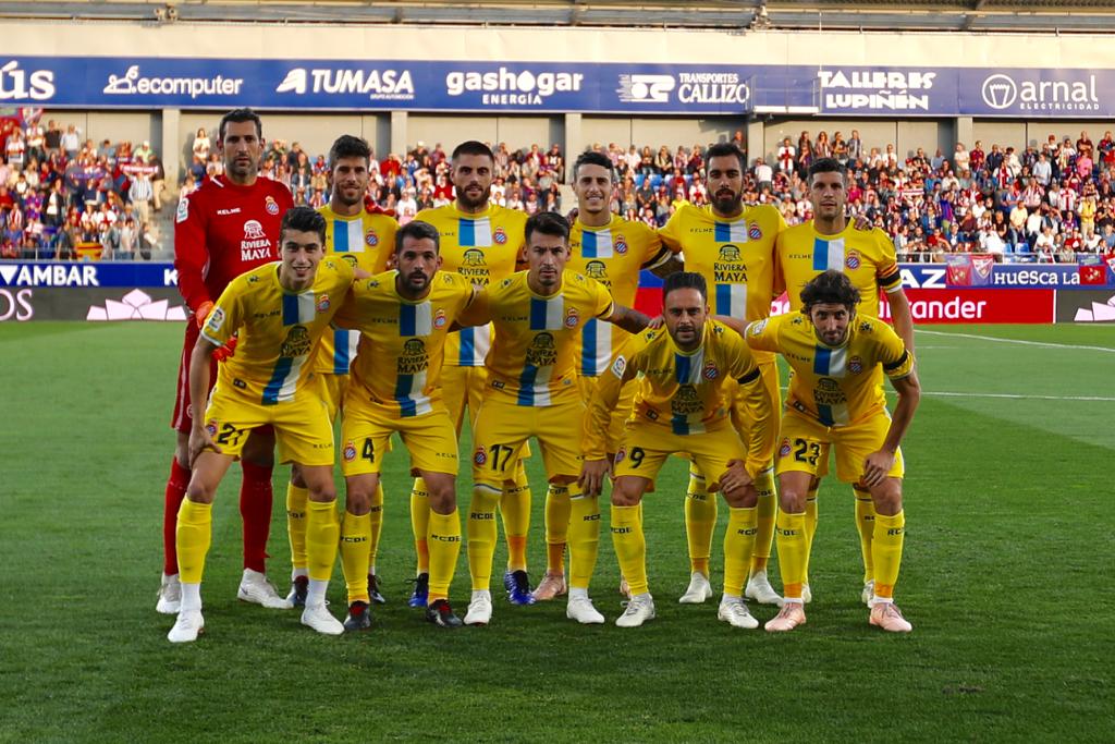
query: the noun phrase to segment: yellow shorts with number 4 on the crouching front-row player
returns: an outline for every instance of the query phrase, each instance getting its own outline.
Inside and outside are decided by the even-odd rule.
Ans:
[[[418,471],[457,474],[457,433],[449,413],[435,407],[421,416],[399,416],[397,410],[351,397],[341,421],[341,473],[345,477],[379,473],[390,438],[399,433],[410,452],[410,474]]]

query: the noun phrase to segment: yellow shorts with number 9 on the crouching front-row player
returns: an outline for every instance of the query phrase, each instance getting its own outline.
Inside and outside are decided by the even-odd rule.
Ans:
[[[615,477],[636,475],[653,483],[666,458],[675,453],[690,455],[694,464],[706,474],[708,490],[716,491],[728,461],[746,460],[747,452],[736,431],[724,423],[701,434],[675,434],[661,424],[630,421],[624,425],[623,444],[615,453]],[[754,476],[757,471],[747,466]]]

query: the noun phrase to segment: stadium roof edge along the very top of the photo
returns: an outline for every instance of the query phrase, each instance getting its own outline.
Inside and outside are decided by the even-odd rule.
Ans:
[[[1102,0],[0,0],[2,19],[242,23],[435,23],[675,27],[740,30],[1098,32],[1115,30]]]

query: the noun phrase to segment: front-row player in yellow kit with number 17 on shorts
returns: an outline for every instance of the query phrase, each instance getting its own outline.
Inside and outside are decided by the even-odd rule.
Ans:
[[[582,624],[603,622],[589,599],[589,581],[600,542],[597,496],[576,485],[581,453],[576,436],[584,404],[576,387],[576,341],[585,321],[605,320],[637,332],[649,318],[612,302],[608,289],[565,270],[569,223],[559,214],[539,212],[526,221],[530,269],[493,284],[465,322],[492,320],[495,329],[487,355],[487,387],[473,428],[473,500],[468,509],[468,572],[473,593],[465,625],[492,619],[492,555],[495,551],[495,506],[501,485],[518,467],[523,446],[536,437],[550,483],[564,485],[570,496],[570,591],[566,617]],[[526,572],[512,572],[508,599],[516,593],[531,603]]]

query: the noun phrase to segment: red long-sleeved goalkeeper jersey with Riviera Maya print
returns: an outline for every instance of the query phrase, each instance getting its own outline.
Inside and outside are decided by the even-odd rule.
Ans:
[[[279,259],[279,225],[294,205],[290,191],[259,177],[239,186],[225,176],[206,178],[178,203],[174,221],[174,268],[178,291],[196,310],[215,301],[229,282]]]

